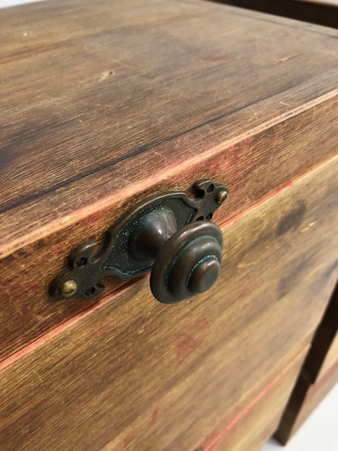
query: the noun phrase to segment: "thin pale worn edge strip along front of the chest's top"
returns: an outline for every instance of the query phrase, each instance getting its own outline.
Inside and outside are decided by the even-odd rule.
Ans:
[[[323,104],[325,101],[334,99],[334,97],[337,97],[337,96],[338,96],[338,89],[333,89],[332,91],[327,92],[326,94],[323,94],[322,96],[317,97],[317,98],[307,102],[306,104],[302,104],[300,106],[297,106],[294,109],[287,111],[286,113],[282,113],[278,116],[275,116],[275,118],[272,118],[269,121],[266,121],[261,125],[257,125],[256,127],[251,128],[250,130],[247,130],[246,132],[242,133],[239,136],[230,138],[230,140],[221,142],[220,144],[216,144],[215,146],[207,149],[205,152],[202,152],[201,154],[198,154],[197,156],[194,155],[191,158],[186,159],[185,161],[182,161],[182,163],[180,164],[180,170],[184,171],[184,168],[189,168],[191,166],[194,166],[194,163],[201,163],[201,161],[210,159],[212,156],[215,156],[219,152],[223,152],[223,151],[225,151],[225,149],[229,149],[230,147],[233,147],[234,145],[246,140],[249,137],[254,137],[256,135],[259,135],[260,133],[264,132],[265,130],[269,130],[273,126],[275,126],[279,123],[283,123],[283,122],[289,120],[290,118],[299,116],[299,114],[301,114],[305,111],[308,111],[310,109],[313,109],[313,107],[319,106],[320,104]],[[253,102],[253,103],[255,103],[255,102]],[[206,124],[208,124],[209,122],[207,122]],[[204,124],[204,125],[206,125],[206,124]],[[161,142],[160,142],[160,144],[161,144]],[[319,163],[319,165],[320,164],[321,163]],[[151,174],[151,177],[148,177],[145,179],[142,178],[138,182],[136,182],[132,185],[128,185],[127,187],[123,187],[120,190],[117,190],[117,191],[113,192],[112,194],[108,194],[106,197],[99,199],[98,201],[94,202],[93,204],[90,204],[91,214],[94,214],[96,212],[101,211],[102,209],[106,209],[106,208],[109,208],[110,206],[113,206],[113,204],[115,203],[114,199],[116,199],[116,198],[128,199],[136,194],[139,194],[139,192],[144,191],[146,188],[156,185],[156,183],[161,183],[161,181],[167,180],[176,174],[177,174],[177,166],[171,166],[170,168],[168,168],[167,170],[164,170],[164,171],[163,171],[163,169],[161,169],[161,171]],[[54,189],[55,189],[55,187],[53,188],[52,191],[54,191]],[[280,191],[280,190],[277,190],[277,191]],[[256,205],[256,204],[254,204],[254,205]],[[63,230],[63,228],[71,226],[72,224],[77,223],[78,221],[82,221],[82,219],[86,218],[88,215],[88,207],[89,207],[88,205],[83,206],[82,208],[75,210],[72,214],[65,215],[62,218],[58,218],[54,221],[50,221],[45,226],[39,227],[39,228],[33,230],[32,232],[27,233],[26,235],[23,235],[23,237],[16,238],[15,240],[12,240],[11,242],[6,243],[6,245],[2,245],[0,247],[0,259],[7,257],[9,254],[13,254],[13,252],[16,252],[18,249],[25,247],[25,246],[31,244],[32,242],[35,242],[44,237],[53,235],[54,233],[56,233],[60,230]]]

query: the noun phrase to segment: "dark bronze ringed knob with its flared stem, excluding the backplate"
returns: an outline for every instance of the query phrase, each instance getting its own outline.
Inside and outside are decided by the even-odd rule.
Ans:
[[[174,304],[213,286],[220,274],[223,235],[210,221],[177,230],[173,211],[158,209],[145,216],[130,240],[137,259],[154,260],[150,285],[154,297]]]

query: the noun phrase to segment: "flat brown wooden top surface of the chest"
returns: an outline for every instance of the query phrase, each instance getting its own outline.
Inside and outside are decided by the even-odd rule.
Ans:
[[[62,0],[0,15],[0,254],[149,176],[180,168],[182,186],[180,165],[337,87],[337,32],[230,6]],[[227,159],[241,172],[238,149]]]

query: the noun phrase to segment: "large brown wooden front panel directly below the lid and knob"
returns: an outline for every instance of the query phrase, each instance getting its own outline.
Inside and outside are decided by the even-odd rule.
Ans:
[[[143,278],[2,362],[2,449],[186,451],[234,419],[323,316],[337,173],[336,158],[227,223],[205,295],[165,306]]]

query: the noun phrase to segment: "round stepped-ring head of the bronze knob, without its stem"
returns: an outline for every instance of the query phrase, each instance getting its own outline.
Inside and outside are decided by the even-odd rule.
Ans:
[[[174,304],[211,288],[220,273],[222,247],[222,232],[209,221],[178,230],[154,261],[150,278],[154,297]]]

